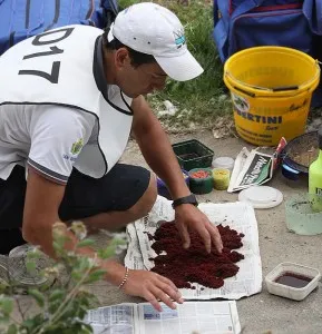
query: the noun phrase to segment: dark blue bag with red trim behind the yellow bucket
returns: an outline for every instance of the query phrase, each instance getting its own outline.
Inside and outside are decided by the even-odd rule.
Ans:
[[[213,37],[222,61],[256,46],[283,46],[312,55],[313,33],[303,13],[304,1],[214,0]]]

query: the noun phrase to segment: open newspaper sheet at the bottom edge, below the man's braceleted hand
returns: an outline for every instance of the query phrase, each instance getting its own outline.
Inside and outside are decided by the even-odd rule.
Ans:
[[[127,303],[88,312],[94,334],[238,334],[236,302],[186,302],[157,312],[148,303]]]

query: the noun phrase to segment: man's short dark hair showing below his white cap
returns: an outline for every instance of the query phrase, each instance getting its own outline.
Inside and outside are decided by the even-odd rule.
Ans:
[[[118,50],[120,48],[126,48],[128,50],[129,53],[129,58],[130,58],[130,65],[133,67],[139,67],[140,65],[144,63],[152,63],[152,62],[156,62],[155,58],[152,55],[147,55],[147,53],[143,53],[143,52],[138,52],[135,51],[134,49],[125,46],[124,43],[121,43],[117,38],[114,38],[110,42],[107,40],[107,36],[108,36],[109,29],[106,29],[105,32],[103,33],[103,45],[104,48],[106,48],[107,50]]]

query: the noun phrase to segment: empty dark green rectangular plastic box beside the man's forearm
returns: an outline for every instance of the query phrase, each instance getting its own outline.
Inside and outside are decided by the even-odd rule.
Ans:
[[[214,151],[197,139],[174,144],[173,149],[185,170],[212,166]]]

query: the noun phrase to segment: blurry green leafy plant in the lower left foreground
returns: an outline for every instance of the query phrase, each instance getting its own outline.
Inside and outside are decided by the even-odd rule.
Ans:
[[[66,225],[57,223],[53,225],[53,248],[57,261],[40,273],[37,272],[37,262],[43,254],[35,247],[27,255],[26,267],[30,275],[55,276],[55,287],[29,288],[27,294],[36,302],[38,312],[26,314],[20,305],[19,294],[21,286],[17,282],[8,282],[0,286],[0,331],[7,334],[87,334],[92,333],[89,324],[84,322],[87,311],[97,305],[97,298],[86,291],[87,284],[92,284],[104,278],[103,271],[98,263],[110,257],[118,245],[125,242],[120,238],[113,238],[105,249],[97,252],[96,258],[81,256],[77,253],[82,247],[91,247],[94,240],[86,238],[87,230],[82,223],[75,222],[68,228],[74,232],[77,243],[72,250],[65,248],[69,237],[66,235]],[[66,279],[60,279],[60,273],[68,273]],[[12,316],[13,308],[18,310],[20,320]]]

